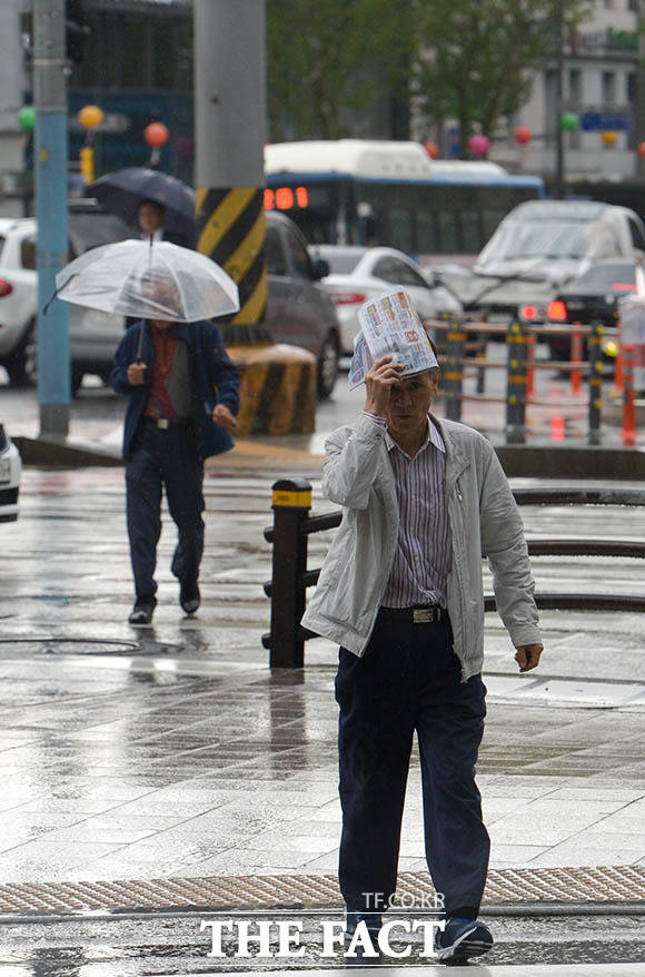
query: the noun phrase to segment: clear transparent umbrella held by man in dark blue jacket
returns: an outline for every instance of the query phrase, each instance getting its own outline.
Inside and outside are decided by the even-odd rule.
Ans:
[[[57,298],[125,316],[192,323],[239,310],[237,285],[206,255],[168,241],[92,248],[56,276]]]

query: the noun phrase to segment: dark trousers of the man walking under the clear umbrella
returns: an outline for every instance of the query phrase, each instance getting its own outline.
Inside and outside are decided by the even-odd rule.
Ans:
[[[126,509],[137,598],[157,591],[155,566],[161,534],[161,496],[179,533],[171,570],[179,580],[199,576],[204,552],[204,462],[189,425],[166,431],[142,421],[126,462]]]

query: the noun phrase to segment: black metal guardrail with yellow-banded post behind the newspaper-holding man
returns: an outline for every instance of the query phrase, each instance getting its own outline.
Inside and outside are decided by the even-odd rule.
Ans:
[[[271,580],[265,593],[271,601],[270,631],[262,635],[269,649],[270,668],[302,668],[305,642],[314,638],[300,625],[306,591],[316,584],[320,570],[307,569],[307,540],[311,533],[340,525],[343,512],[309,515],[311,485],[306,478],[281,478],[274,483],[274,525],[265,540],[274,544]],[[643,488],[525,486],[514,490],[518,505],[645,505]],[[527,537],[534,556],[628,556],[645,557],[644,540],[582,537]],[[645,596],[633,594],[536,593],[543,610],[645,611]],[[486,594],[486,611],[495,610],[495,598]]]

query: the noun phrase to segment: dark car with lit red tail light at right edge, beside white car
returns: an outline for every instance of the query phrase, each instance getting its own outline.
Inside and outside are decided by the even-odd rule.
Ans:
[[[588,270],[563,288],[548,305],[549,323],[555,325],[579,323],[583,326],[602,323],[607,338],[615,336],[619,318],[621,298],[636,288],[636,263],[627,259],[595,261]],[[569,361],[570,336],[548,336],[554,359]],[[583,357],[586,358],[583,342]]]

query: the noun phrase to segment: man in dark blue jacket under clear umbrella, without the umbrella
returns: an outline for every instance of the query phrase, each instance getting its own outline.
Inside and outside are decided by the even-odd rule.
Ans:
[[[149,297],[177,315],[179,296],[148,276]],[[152,318],[121,341],[110,383],[129,396],[123,432],[126,505],[136,601],[130,624],[149,624],[157,604],[155,566],[161,494],[179,533],[171,570],[187,614],[199,608],[204,551],[204,458],[232,447],[239,376],[214,323]],[[215,395],[217,391],[217,399]]]

